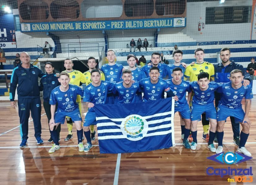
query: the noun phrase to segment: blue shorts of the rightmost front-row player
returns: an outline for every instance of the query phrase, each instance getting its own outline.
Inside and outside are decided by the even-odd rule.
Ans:
[[[217,108],[217,121],[226,120],[227,117],[235,117],[235,123],[243,122],[245,117],[245,112],[242,108],[230,109],[223,105],[218,105]]]

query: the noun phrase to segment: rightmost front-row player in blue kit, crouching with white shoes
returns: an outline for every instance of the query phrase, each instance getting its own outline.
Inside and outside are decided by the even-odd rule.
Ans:
[[[242,125],[242,131],[240,133],[240,143],[237,148],[237,152],[243,153],[247,156],[252,156],[252,154],[246,150],[245,143],[249,136],[249,130],[251,126],[251,121],[248,117],[251,99],[253,98],[252,86],[249,84],[246,87],[243,86],[243,72],[239,69],[234,69],[230,72],[229,79],[231,82],[224,83],[218,88],[219,93],[223,93],[222,98],[219,101],[217,109],[217,121],[218,128],[216,136],[218,138],[218,148],[216,154],[223,152],[223,128],[225,120],[229,116],[235,117],[235,123]],[[245,97],[245,112],[242,109],[242,99]]]

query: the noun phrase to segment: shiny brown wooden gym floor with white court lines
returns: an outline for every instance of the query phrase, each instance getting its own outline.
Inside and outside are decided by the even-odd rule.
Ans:
[[[85,105],[83,107],[85,110]],[[96,137],[96,140],[92,142],[94,146],[88,153],[78,152],[75,126],[73,127],[74,138],[69,142],[64,142],[68,134],[67,125],[64,124],[61,125],[61,148],[49,154],[48,150],[51,145],[47,143],[47,140],[50,134],[42,106],[41,122],[44,144],[40,146],[36,144],[33,121],[30,118],[29,144],[28,147],[21,149],[19,148],[18,109],[12,109],[10,102],[0,102],[0,184],[236,184],[227,181],[228,178],[234,179],[234,175],[225,175],[223,178],[219,175],[207,175],[207,167],[226,169],[227,167],[252,167],[253,182],[238,184],[256,184],[255,110],[256,99],[254,97],[249,113],[252,126],[246,144],[253,159],[228,166],[206,159],[214,153],[210,152],[207,142],[201,138],[201,122],[197,126],[199,143],[197,150],[188,150],[182,146],[178,113],[174,118],[176,146],[170,149],[128,154],[99,154]],[[232,139],[232,127],[228,118],[223,139],[225,152],[236,151],[237,146],[234,145]]]

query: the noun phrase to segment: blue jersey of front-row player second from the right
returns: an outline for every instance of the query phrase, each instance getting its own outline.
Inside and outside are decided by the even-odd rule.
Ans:
[[[201,91],[197,81],[190,82],[190,88],[194,91],[192,105],[208,105],[214,101],[214,91],[220,86],[216,82],[209,82],[208,89]]]

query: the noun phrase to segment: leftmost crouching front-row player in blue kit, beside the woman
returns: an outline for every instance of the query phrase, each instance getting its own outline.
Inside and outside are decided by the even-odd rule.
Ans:
[[[51,104],[51,120],[49,125],[51,138],[54,142],[49,153],[53,153],[55,150],[60,149],[56,127],[58,127],[59,124],[64,124],[66,116],[71,117],[76,125],[79,152],[83,152],[82,118],[76,102],[77,94],[83,96],[83,90],[76,85],[69,84],[70,78],[67,72],[61,72],[58,80],[60,86],[52,90],[49,102]],[[58,105],[57,111],[55,112],[56,104]]]

